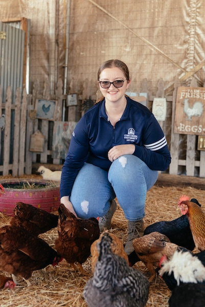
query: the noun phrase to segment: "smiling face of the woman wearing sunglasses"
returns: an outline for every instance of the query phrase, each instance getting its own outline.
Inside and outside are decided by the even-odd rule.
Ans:
[[[131,81],[126,80],[123,71],[118,67],[106,68],[101,72],[99,81],[113,82],[117,80],[124,80],[122,87],[115,87],[113,84],[110,84],[107,89],[103,89],[99,84],[100,91],[105,97],[105,100],[109,100],[111,102],[120,101],[121,98],[124,97]]]

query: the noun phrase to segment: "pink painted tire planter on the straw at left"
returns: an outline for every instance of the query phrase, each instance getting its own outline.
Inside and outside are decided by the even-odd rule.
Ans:
[[[27,182],[42,185],[42,188],[12,188],[12,186],[18,184],[22,186],[22,184],[27,184]],[[2,194],[0,197],[0,211],[6,215],[13,215],[13,209],[18,202],[33,205],[47,212],[58,210],[60,205],[59,185],[53,187],[52,182],[43,179],[5,179],[1,181],[1,184],[4,186],[5,194]]]

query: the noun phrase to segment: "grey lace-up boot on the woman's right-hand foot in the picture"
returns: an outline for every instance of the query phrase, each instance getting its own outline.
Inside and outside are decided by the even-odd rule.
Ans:
[[[135,221],[135,222],[130,222],[128,221],[128,238],[127,238],[127,243],[125,244],[125,253],[127,255],[131,254],[133,252],[134,248],[132,245],[132,241],[135,238],[139,238],[140,236],[143,236],[144,234],[144,221]]]

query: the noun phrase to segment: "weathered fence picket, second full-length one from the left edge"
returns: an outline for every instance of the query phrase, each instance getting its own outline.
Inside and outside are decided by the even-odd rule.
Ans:
[[[13,167],[12,167],[12,176],[14,177],[18,175],[20,100],[21,100],[20,87],[17,87],[16,99],[15,99],[15,120],[14,120],[14,140],[13,140],[13,148],[15,152],[13,155]]]

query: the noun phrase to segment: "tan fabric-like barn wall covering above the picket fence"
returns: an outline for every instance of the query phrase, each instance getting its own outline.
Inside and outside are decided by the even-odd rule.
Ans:
[[[64,78],[68,1],[1,1],[0,20],[31,19],[30,80],[43,91],[48,79],[51,94]],[[67,94],[86,86],[95,95],[99,65],[119,58],[130,69],[131,91],[147,78],[154,95],[160,78],[167,87],[205,57],[204,13],[203,0],[71,0]],[[203,83],[204,67],[195,76]]]

